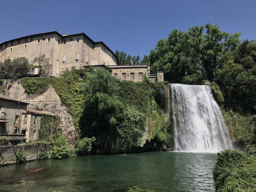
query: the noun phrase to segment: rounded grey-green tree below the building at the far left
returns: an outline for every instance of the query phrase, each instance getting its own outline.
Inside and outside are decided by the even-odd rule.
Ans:
[[[26,57],[18,57],[13,61],[7,59],[4,62],[4,66],[6,68],[6,72],[13,79],[25,77],[30,71],[30,64]]]

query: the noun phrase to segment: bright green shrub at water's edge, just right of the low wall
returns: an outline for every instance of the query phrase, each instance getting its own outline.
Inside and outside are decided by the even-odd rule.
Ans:
[[[52,141],[51,158],[63,159],[74,155],[74,149],[67,143],[64,135],[57,135]]]

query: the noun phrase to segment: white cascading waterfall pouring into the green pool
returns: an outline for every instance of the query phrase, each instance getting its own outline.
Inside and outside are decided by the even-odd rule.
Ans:
[[[232,147],[210,86],[171,84],[171,93],[175,151],[216,153]]]

